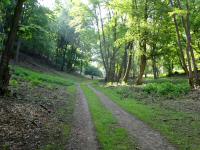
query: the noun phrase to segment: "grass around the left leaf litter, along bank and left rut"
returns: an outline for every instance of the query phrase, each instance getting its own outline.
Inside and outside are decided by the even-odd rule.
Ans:
[[[46,141],[47,145],[43,145],[41,149],[44,150],[64,150],[67,140],[72,128],[72,116],[75,107],[76,99],[76,85],[75,82],[78,81],[78,77],[64,73],[44,73],[39,71],[34,71],[28,68],[12,66],[12,80],[10,80],[10,86],[17,88],[20,86],[21,81],[28,81],[32,86],[43,86],[47,89],[57,89],[59,86],[66,89],[68,93],[66,100],[63,99],[62,106],[58,105],[54,107],[54,117],[58,121],[55,123],[55,128],[60,130],[60,135],[57,139],[50,137],[49,141]],[[53,102],[52,102],[53,103]],[[54,129],[52,129],[53,132]],[[51,131],[49,131],[51,133]],[[52,142],[53,141],[53,142]]]

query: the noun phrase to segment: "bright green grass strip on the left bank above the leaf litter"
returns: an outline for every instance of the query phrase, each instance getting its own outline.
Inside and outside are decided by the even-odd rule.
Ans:
[[[74,84],[74,80],[72,78],[68,78],[68,76],[63,77],[56,74],[33,71],[18,66],[14,67],[13,79],[15,78],[30,81],[35,86],[42,84],[71,86]]]

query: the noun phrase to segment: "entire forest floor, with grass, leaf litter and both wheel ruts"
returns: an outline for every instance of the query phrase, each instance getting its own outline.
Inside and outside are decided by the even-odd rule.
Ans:
[[[178,90],[166,79],[108,86],[37,66],[13,68],[12,95],[0,97],[0,149],[200,148],[200,92],[188,91],[184,79],[167,79]]]

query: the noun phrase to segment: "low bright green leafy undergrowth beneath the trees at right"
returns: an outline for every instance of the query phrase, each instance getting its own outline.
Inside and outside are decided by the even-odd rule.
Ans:
[[[144,91],[158,95],[180,96],[181,94],[187,94],[190,91],[190,87],[187,83],[149,83],[144,86]]]

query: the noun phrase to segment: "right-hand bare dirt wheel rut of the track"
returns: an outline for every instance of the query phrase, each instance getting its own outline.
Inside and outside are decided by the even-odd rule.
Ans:
[[[123,128],[126,128],[129,134],[137,139],[142,150],[175,150],[175,148],[158,132],[152,130],[142,121],[125,112],[117,104],[109,100],[107,96],[97,91],[92,86],[88,86],[96,93],[107,109],[116,116],[119,124]]]

